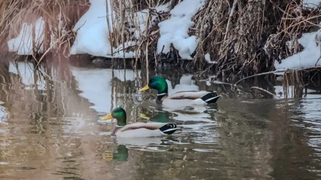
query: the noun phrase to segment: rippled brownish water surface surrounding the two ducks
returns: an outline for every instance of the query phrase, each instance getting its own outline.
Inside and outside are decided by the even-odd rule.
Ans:
[[[206,107],[171,111],[137,93],[145,71],[19,63],[0,67],[0,179],[321,179],[321,95],[245,98],[230,86],[164,70],[169,94],[217,90]],[[265,82],[262,82],[263,84]],[[271,91],[271,90],[270,90]],[[291,93],[290,93],[291,94]],[[291,96],[289,96],[291,97]],[[172,136],[113,139],[103,115],[175,122]]]

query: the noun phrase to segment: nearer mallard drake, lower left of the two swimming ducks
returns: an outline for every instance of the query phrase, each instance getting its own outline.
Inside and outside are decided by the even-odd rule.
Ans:
[[[116,137],[153,137],[173,134],[177,128],[175,123],[158,123],[158,122],[137,122],[126,125],[126,112],[123,108],[118,107],[112,110],[102,120],[115,118],[111,136]]]

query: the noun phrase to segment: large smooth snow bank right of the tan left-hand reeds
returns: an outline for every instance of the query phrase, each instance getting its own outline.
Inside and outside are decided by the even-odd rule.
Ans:
[[[89,0],[90,7],[89,10],[79,19],[73,28],[73,31],[77,31],[77,36],[74,44],[71,47],[70,54],[90,54],[93,56],[101,56],[108,58],[134,58],[136,57],[136,52],[129,51],[125,52],[123,45],[118,48],[112,48],[109,42],[109,30],[107,24],[107,13],[106,13],[106,0]],[[108,18],[110,22],[110,29],[112,30],[112,18],[111,15],[114,13],[111,11],[110,0],[107,0],[108,6]],[[140,31],[145,31],[145,23],[147,19],[148,9],[144,9],[141,12],[137,12],[133,15],[140,27]],[[168,11],[168,4],[156,7],[156,11]],[[152,18],[156,18],[153,16]],[[115,22],[116,23],[116,22]],[[116,25],[116,24],[115,24]],[[132,26],[132,22],[129,27]],[[134,28],[129,28],[130,32],[134,32],[136,38],[139,37],[140,32]],[[125,43],[125,49],[136,45],[136,42],[129,41]],[[113,55],[111,53],[113,49]]]

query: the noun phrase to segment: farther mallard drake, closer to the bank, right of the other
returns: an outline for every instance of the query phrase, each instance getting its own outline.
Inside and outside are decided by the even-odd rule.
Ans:
[[[220,97],[214,91],[180,91],[168,96],[167,82],[161,76],[153,76],[148,84],[139,91],[146,91],[150,88],[158,91],[156,103],[167,107],[210,104]]]

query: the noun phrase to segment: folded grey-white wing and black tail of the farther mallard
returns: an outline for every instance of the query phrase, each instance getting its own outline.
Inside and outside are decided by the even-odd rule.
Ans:
[[[216,91],[180,91],[177,93],[172,94],[171,96],[167,97],[166,99],[172,100],[182,100],[182,99],[189,99],[189,100],[202,100],[205,103],[214,103],[220,96],[217,96]]]

